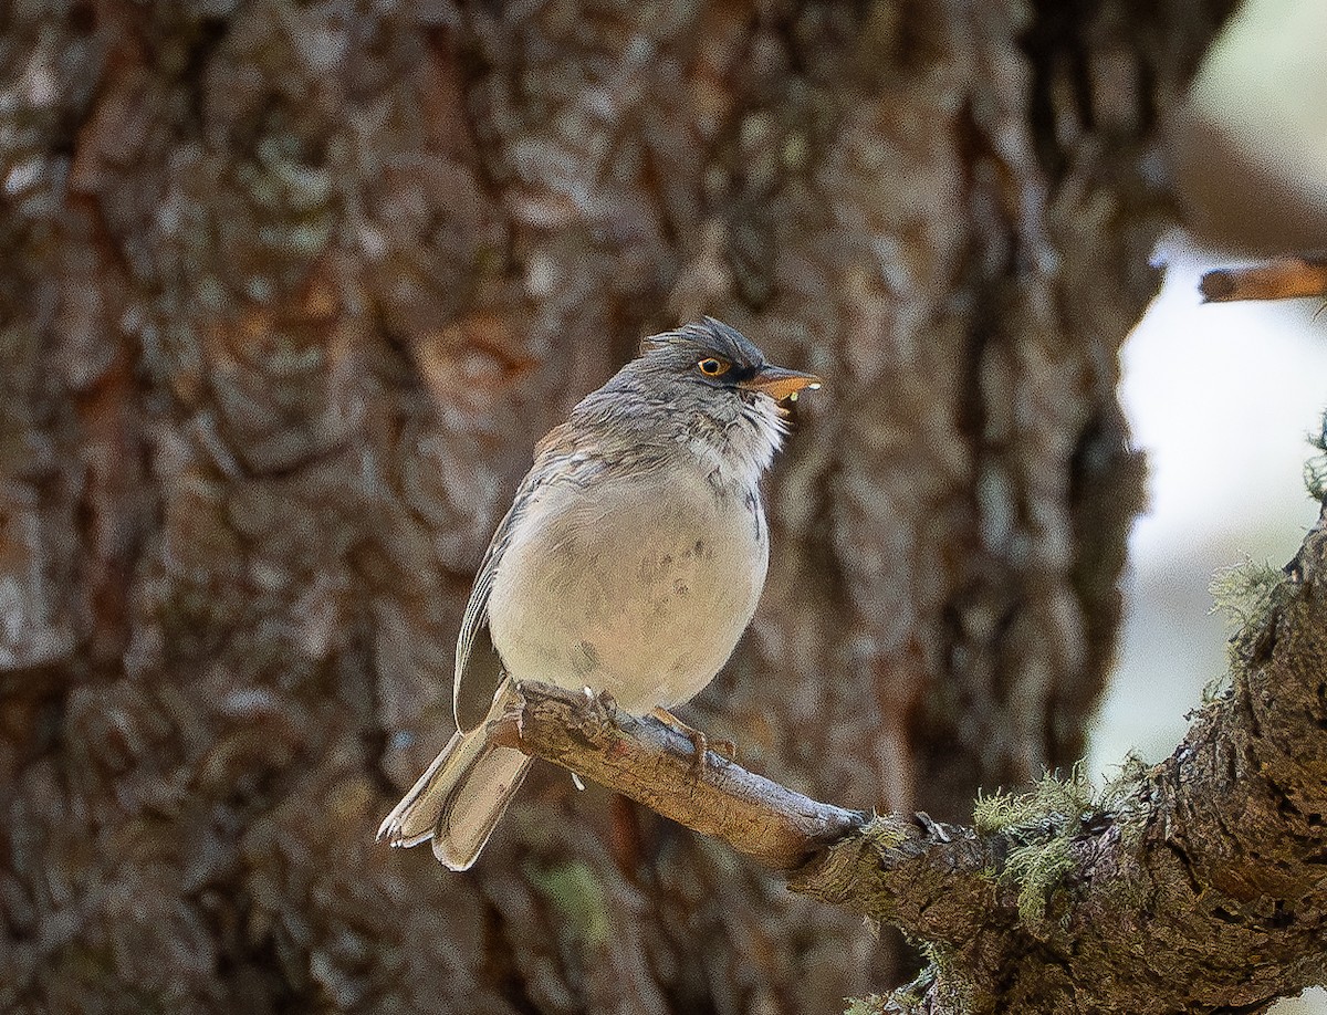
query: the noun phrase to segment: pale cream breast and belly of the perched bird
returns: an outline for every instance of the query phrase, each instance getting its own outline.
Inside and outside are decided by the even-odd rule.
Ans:
[[[768,563],[754,484],[698,467],[536,491],[488,600],[508,673],[606,690],[628,711],[698,694],[755,612]]]

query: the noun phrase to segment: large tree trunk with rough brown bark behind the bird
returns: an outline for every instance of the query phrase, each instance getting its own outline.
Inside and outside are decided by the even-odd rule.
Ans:
[[[703,310],[831,386],[690,718],[852,808],[1074,760],[1158,127],[1229,5],[0,8],[0,1007],[886,986],[856,918],[557,774],[466,877],[372,831],[529,446]]]

